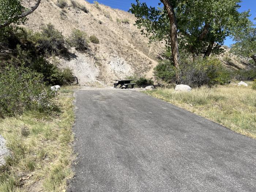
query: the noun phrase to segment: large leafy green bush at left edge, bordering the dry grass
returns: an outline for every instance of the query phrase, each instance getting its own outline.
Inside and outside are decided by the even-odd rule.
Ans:
[[[57,109],[54,93],[42,82],[42,75],[26,67],[6,67],[0,76],[0,117],[24,110],[50,112]]]

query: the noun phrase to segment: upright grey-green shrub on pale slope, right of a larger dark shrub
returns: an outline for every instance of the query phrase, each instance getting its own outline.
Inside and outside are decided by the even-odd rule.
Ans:
[[[86,52],[89,49],[86,33],[79,29],[74,29],[70,37],[71,46],[74,46],[76,50],[80,52]]]

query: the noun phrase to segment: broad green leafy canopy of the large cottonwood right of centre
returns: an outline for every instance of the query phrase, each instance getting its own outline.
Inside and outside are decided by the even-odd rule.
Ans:
[[[221,53],[225,38],[249,22],[249,11],[238,11],[240,2],[241,0],[161,0],[163,7],[155,8],[136,0],[129,11],[135,14],[136,25],[150,41],[165,40],[166,45],[172,47],[172,53],[178,44],[182,52],[193,57],[207,57],[211,53]],[[172,32],[175,28],[178,43],[176,34]]]

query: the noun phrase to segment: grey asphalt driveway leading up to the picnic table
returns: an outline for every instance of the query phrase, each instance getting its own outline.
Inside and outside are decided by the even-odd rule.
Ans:
[[[132,90],[78,90],[69,191],[256,191],[256,140]]]

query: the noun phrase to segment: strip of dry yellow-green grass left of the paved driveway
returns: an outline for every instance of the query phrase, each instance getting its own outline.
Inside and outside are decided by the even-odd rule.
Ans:
[[[65,190],[66,181],[74,176],[72,93],[69,87],[61,89],[59,114],[26,112],[0,120],[1,135],[12,151],[0,168],[1,192]]]

